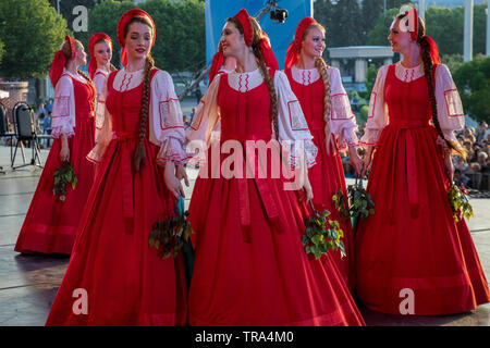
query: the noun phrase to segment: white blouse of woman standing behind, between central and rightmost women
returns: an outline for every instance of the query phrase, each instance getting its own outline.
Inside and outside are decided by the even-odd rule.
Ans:
[[[342,85],[340,71],[336,67],[327,67],[330,80],[330,96],[332,98],[332,107],[330,109],[330,129],[338,136],[338,144],[341,149],[348,146],[358,146],[356,135],[357,124],[356,116],[352,112],[348,96]],[[315,69],[298,69],[295,65],[291,67],[293,79],[304,86],[311,85],[321,76]]]

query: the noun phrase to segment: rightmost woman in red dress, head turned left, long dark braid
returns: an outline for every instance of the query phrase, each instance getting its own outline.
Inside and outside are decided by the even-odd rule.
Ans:
[[[366,134],[367,190],[376,212],[356,236],[357,295],[391,314],[449,314],[489,301],[489,287],[466,222],[455,223],[453,130],[464,113],[437,46],[416,10],[395,17],[388,37],[402,61],[378,72]]]

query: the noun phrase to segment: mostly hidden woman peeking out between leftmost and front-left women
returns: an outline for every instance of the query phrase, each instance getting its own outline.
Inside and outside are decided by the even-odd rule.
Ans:
[[[96,33],[88,40],[88,54],[90,62],[88,63],[88,75],[94,80],[97,90],[96,105],[96,140],[99,136],[103,124],[105,100],[100,98],[107,76],[110,72],[115,71],[115,66],[111,64],[112,41],[105,33]]]

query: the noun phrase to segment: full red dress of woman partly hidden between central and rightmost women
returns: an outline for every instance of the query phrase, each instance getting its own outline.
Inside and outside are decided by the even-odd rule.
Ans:
[[[308,178],[311,184],[314,199],[313,203],[316,210],[328,210],[333,220],[339,221],[340,227],[344,232],[343,243],[346,257],[341,258],[340,251],[329,251],[345,283],[351,290],[355,286],[355,262],[354,262],[354,240],[351,219],[342,219],[340,212],[335,209],[332,196],[339,189],[346,197],[347,187],[345,185],[344,170],[342,161],[336,149],[331,149],[327,153],[327,144],[324,139],[323,120],[323,95],[324,85],[321,78],[307,86],[298,84],[292,76],[291,69],[285,69],[284,73],[291,84],[291,89],[297,97],[303,113],[305,114],[308,128],[314,136],[314,144],[319,149],[316,158],[317,164],[308,170]],[[333,135],[332,135],[333,136]]]

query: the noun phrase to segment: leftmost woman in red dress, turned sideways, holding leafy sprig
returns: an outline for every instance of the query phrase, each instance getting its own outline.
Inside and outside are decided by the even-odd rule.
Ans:
[[[70,254],[82,211],[94,182],[94,165],[85,159],[95,146],[94,107],[96,90],[90,78],[77,70],[85,64],[84,47],[65,38],[49,71],[54,86],[53,145],[39,178],[15,245],[19,252]],[[77,176],[75,189],[65,199],[53,195],[54,172],[70,161]]]

